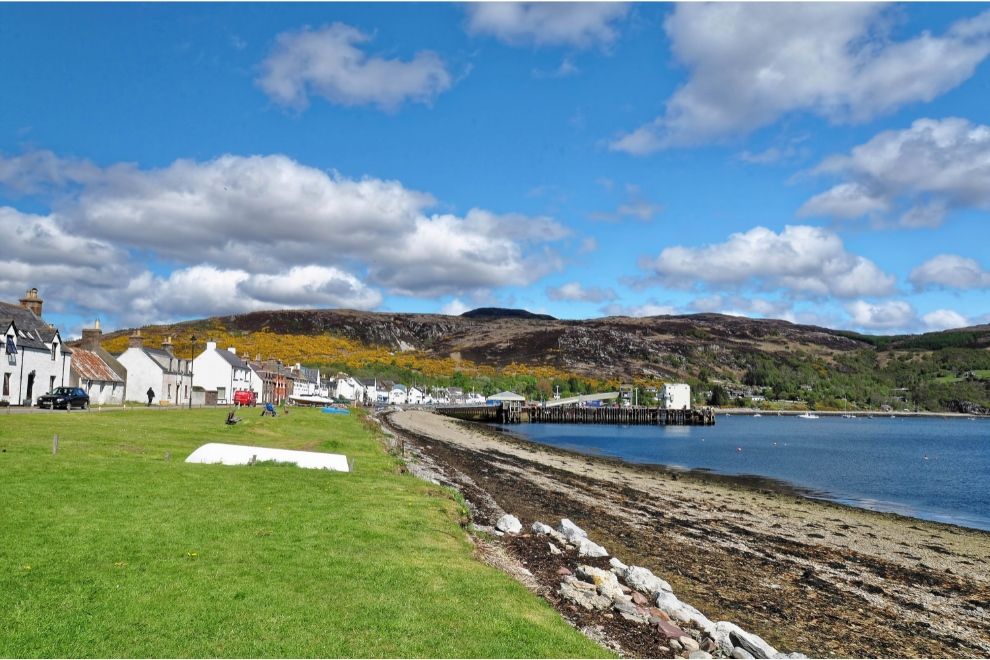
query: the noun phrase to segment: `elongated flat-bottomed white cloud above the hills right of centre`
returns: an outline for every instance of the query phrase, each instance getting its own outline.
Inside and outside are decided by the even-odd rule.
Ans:
[[[698,285],[783,289],[796,296],[887,295],[894,278],[865,257],[846,251],[842,240],[819,227],[766,227],[732,234],[725,243],[700,248],[665,248],[642,266],[662,284],[693,289]]]

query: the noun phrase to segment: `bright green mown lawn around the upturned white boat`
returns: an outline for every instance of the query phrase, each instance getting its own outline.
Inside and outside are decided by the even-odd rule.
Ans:
[[[360,415],[225,416],[0,412],[0,656],[605,655],[473,559],[459,506]],[[216,441],[354,472],[183,462]]]

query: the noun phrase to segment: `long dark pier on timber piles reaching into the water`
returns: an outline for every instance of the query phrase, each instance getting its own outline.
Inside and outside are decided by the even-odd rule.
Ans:
[[[620,426],[713,426],[711,408],[668,410],[647,406],[624,408],[524,406],[515,402],[495,406],[456,406],[437,412],[471,422],[489,424],[615,424]]]

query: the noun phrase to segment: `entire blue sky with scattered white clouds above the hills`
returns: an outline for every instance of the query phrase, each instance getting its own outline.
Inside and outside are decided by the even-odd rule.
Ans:
[[[0,4],[0,300],[990,322],[990,5]]]

